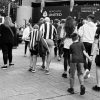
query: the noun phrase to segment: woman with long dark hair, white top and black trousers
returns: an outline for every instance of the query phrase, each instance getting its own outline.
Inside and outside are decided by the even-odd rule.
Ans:
[[[68,65],[70,66],[70,45],[73,43],[71,39],[71,34],[75,31],[76,28],[76,22],[75,20],[71,17],[68,16],[65,22],[65,32],[66,32],[66,37],[64,39],[64,73],[62,74],[62,77],[67,78],[67,67]]]

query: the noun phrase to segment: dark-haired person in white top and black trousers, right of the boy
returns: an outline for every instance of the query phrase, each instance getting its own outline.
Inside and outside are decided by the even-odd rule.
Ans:
[[[87,23],[81,26],[78,30],[78,34],[80,35],[81,40],[84,43],[86,52],[89,54],[89,56],[91,54],[91,48],[92,48],[92,43],[94,42],[96,29],[97,27],[94,23],[94,15],[90,14],[87,16]],[[84,78],[86,79],[90,77],[89,71],[91,70],[91,62],[85,61],[84,68],[85,68]]]

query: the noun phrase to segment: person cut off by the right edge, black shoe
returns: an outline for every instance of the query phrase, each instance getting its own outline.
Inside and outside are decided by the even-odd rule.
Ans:
[[[95,56],[95,63],[96,63],[96,80],[97,84],[92,88],[94,91],[100,92],[100,25],[96,30],[96,36],[94,43],[92,45],[92,52],[91,56]]]

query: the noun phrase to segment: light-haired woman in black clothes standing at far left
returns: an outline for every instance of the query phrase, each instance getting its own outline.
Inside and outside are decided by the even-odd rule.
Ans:
[[[0,26],[1,49],[4,61],[4,65],[1,68],[3,69],[8,67],[8,60],[9,66],[14,65],[12,63],[12,48],[14,43],[14,33],[12,31],[13,27],[14,24],[12,24],[12,20],[8,16],[5,17],[4,24]]]

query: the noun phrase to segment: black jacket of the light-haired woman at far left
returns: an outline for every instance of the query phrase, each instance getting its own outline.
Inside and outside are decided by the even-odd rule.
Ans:
[[[11,29],[13,27],[10,27]],[[6,27],[4,24],[0,25],[0,44],[14,44],[14,34],[10,31],[8,27]]]

